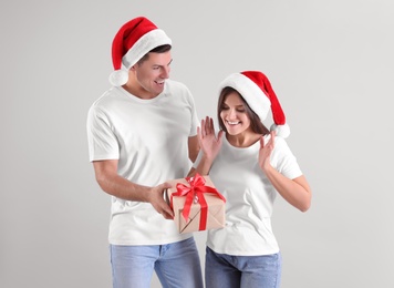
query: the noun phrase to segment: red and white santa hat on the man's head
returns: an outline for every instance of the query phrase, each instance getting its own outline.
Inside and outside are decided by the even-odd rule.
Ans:
[[[145,17],[137,17],[125,23],[112,42],[114,70],[110,82],[114,86],[127,83],[128,70],[156,47],[172,44],[166,33]]]

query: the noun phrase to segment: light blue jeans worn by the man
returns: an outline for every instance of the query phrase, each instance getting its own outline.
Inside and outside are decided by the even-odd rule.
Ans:
[[[166,245],[110,245],[110,250],[114,288],[149,288],[154,270],[164,288],[204,287],[193,237]]]

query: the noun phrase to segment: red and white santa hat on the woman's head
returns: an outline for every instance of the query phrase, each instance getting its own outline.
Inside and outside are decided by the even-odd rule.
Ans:
[[[227,76],[219,85],[220,91],[234,88],[241,94],[250,109],[265,121],[270,109],[273,124],[271,131],[283,138],[290,135],[290,127],[286,123],[286,116],[268,78],[259,71],[243,71]]]

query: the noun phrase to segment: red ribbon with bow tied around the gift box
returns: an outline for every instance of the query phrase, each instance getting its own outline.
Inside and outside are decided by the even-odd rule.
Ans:
[[[205,230],[207,227],[208,205],[204,197],[204,193],[212,193],[224,202],[226,202],[226,198],[216,188],[205,186],[206,181],[198,173],[194,177],[186,177],[185,179],[188,182],[189,186],[183,183],[178,183],[176,185],[177,192],[172,194],[172,206],[173,206],[173,196],[186,196],[185,206],[182,215],[184,216],[187,223],[187,219],[190,214],[193,200],[196,198],[199,205],[201,206],[199,230]]]

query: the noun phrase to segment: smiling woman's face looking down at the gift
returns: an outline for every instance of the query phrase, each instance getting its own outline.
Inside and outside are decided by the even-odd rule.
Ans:
[[[230,135],[238,135],[250,128],[250,119],[245,103],[237,92],[227,95],[221,105],[220,117]]]

